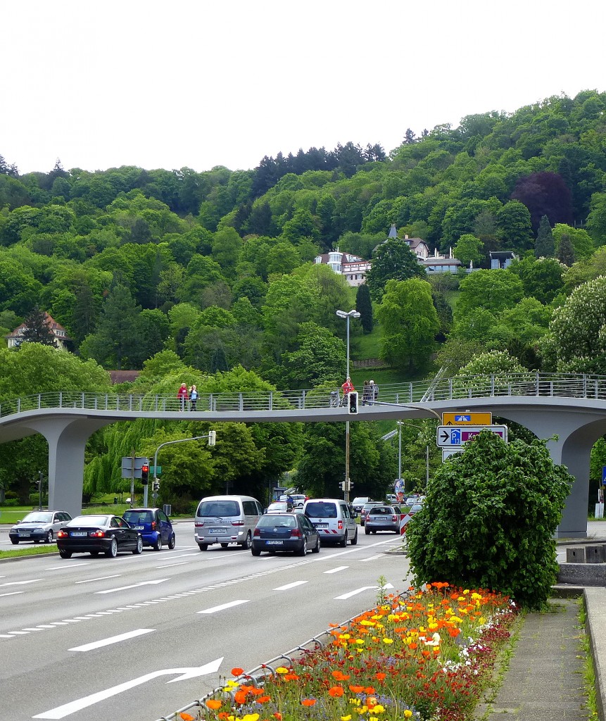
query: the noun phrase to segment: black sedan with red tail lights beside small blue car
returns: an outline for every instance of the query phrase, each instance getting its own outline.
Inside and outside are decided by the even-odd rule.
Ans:
[[[115,558],[121,551],[141,553],[143,538],[120,516],[76,516],[58,532],[57,547],[61,558],[71,558],[73,553]]]

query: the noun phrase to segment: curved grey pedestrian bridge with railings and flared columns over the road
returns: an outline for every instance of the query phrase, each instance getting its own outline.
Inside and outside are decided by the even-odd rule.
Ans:
[[[557,536],[587,536],[589,457],[606,434],[606,376],[546,373],[456,376],[380,386],[377,402],[357,415],[334,405],[329,390],[200,394],[195,411],[180,410],[174,396],[58,391],[0,404],[0,443],[41,433],[48,441],[49,504],[81,511],[84,446],[95,430],[148,417],[241,423],[342,423],[440,418],[445,411],[490,411],[548,439],[554,462],[576,478]]]

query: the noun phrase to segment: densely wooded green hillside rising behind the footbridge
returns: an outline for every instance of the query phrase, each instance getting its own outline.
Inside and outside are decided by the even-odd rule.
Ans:
[[[345,366],[345,324],[335,311],[370,309],[370,291],[381,329],[376,355],[403,378],[440,366],[455,373],[472,359],[464,371],[606,373],[605,109],[604,93],[551,97],[511,115],[470,115],[419,138],[403,130],[403,143],[389,152],[346,143],[266,156],[235,172],[86,172],[58,161],[50,172],[22,175],[2,149],[1,335],[32,309],[48,311],[66,328],[73,353],[90,359],[82,382],[91,389],[100,382],[96,363],[143,370],[129,386],[136,392],[176,392],[182,379],[201,391],[328,388],[341,384]],[[391,224],[399,239],[383,244]],[[452,248],[479,270],[428,278],[411,262],[405,235],[432,250]],[[358,298],[344,278],[313,265],[336,247],[373,258]],[[487,270],[496,250],[520,260]],[[364,328],[352,324],[354,338],[372,330],[370,312]],[[24,350],[2,351],[5,367]],[[5,376],[0,400],[53,385],[45,373]],[[355,425],[360,458],[352,479],[357,474],[357,490],[378,495],[395,477],[393,449],[372,424]],[[120,484],[115,459],[128,446],[141,451],[146,439],[153,453],[170,433],[183,428],[142,422],[127,433],[95,434],[89,492]],[[417,435],[411,457],[420,459]],[[338,427],[243,427],[232,439],[222,461],[219,440],[208,454],[205,488],[231,479],[262,489],[298,466],[309,490],[337,492]],[[26,443],[36,441],[6,448]],[[249,452],[236,453],[239,444]],[[174,481],[171,496],[167,483],[167,497],[199,495],[200,459],[189,453],[175,452],[181,485]],[[6,460],[13,454],[2,455],[0,480],[24,495],[39,458],[17,461],[15,472]]]

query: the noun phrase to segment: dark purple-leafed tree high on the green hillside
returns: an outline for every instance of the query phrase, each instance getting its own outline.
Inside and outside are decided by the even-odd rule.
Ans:
[[[512,200],[520,200],[530,213],[533,231],[538,231],[540,219],[547,216],[550,225],[572,223],[572,196],[561,175],[533,173],[520,178],[512,193]]]

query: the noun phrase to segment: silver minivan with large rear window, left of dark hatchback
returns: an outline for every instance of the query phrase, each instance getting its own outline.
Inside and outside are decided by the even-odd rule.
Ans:
[[[194,519],[195,541],[200,551],[213,543],[227,548],[231,543],[251,547],[251,539],[263,508],[256,498],[241,495],[216,495],[202,498]]]

